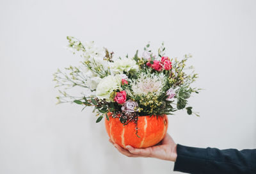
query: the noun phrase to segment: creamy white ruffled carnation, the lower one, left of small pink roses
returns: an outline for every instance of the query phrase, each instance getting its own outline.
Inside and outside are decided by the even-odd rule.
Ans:
[[[96,95],[99,99],[110,100],[110,94],[121,88],[122,78],[120,75],[108,75],[101,79],[96,89]]]

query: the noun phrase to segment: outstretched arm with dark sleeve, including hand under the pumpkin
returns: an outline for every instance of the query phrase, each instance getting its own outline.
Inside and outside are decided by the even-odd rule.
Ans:
[[[193,148],[177,145],[169,134],[166,134],[159,145],[149,148],[126,146],[127,149],[124,149],[116,144],[113,145],[128,157],[154,157],[173,161],[175,171],[207,174],[256,173],[256,149],[238,151],[236,149]]]

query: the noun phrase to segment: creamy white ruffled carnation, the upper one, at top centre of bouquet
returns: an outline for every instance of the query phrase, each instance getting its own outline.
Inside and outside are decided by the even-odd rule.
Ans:
[[[111,63],[111,69],[114,74],[124,74],[124,72],[138,72],[139,66],[136,61],[130,58],[115,59]]]

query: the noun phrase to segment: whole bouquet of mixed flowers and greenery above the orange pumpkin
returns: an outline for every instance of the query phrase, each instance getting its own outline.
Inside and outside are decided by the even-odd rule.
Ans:
[[[58,103],[72,102],[83,109],[92,106],[99,116],[96,122],[112,116],[124,125],[136,123],[139,116],[172,115],[179,109],[198,116],[188,106],[191,93],[200,91],[191,87],[197,78],[193,67],[186,66],[191,55],[186,54],[180,61],[169,58],[164,55],[162,43],[157,54],[148,44],[141,56],[136,51],[132,57],[120,58],[94,42],[82,43],[71,36],[67,40],[68,49],[82,60],[81,67],[70,66],[65,72],[58,69],[54,74],[56,87],[62,88]],[[81,87],[78,97],[66,91],[75,87]]]

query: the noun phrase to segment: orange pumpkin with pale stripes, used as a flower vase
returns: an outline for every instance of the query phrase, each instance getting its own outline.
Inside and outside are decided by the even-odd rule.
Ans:
[[[110,113],[108,115],[111,115]],[[168,129],[168,117],[162,116],[139,116],[138,136],[136,136],[136,124],[133,122],[124,125],[119,118],[109,116],[105,119],[106,131],[114,143],[125,148],[131,145],[134,148],[147,148],[159,143],[166,135]]]

